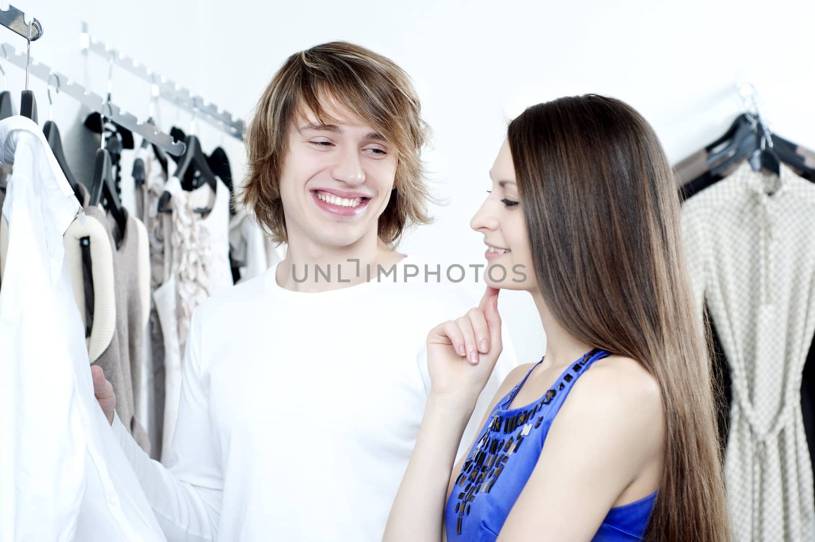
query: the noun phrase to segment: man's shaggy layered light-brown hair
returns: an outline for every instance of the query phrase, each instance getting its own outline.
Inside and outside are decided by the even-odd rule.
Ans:
[[[289,56],[263,91],[246,136],[244,205],[275,241],[288,241],[278,182],[289,129],[304,109],[328,123],[326,105],[354,113],[394,145],[394,189],[378,230],[379,238],[394,247],[407,226],[430,222],[427,204],[433,198],[420,158],[428,128],[407,73],[392,60],[348,42],[324,43]]]

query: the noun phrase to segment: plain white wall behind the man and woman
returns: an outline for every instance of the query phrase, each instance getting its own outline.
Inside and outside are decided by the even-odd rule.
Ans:
[[[481,236],[469,218],[485,197],[506,123],[540,101],[586,92],[625,100],[650,120],[676,162],[725,131],[742,110],[735,85],[749,80],[770,127],[815,149],[815,2],[13,3],[45,29],[32,56],[97,93],[105,91],[107,65],[81,55],[81,21],[95,37],[247,120],[294,51],[344,39],[390,56],[416,82],[434,131],[426,157],[435,191],[450,201],[434,209],[436,224],[402,245],[432,263],[482,263]],[[2,41],[24,51],[25,40],[14,33]],[[0,65],[9,87],[21,89],[23,71],[2,59]],[[44,122],[46,86],[32,80],[31,88]],[[114,70],[113,101],[121,107],[145,116],[149,91]],[[55,98],[68,148],[81,116],[71,98]],[[186,129],[190,115],[162,103],[158,120],[165,130]],[[240,178],[240,144],[197,126],[206,149],[227,149]],[[540,358],[545,339],[529,297],[504,292],[501,309],[519,356]]]

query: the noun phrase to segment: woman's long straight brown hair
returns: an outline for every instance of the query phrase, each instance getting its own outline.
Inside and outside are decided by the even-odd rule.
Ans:
[[[509,147],[548,308],[659,382],[664,467],[645,540],[730,540],[711,363],[657,136],[627,104],[588,95],[526,109]]]

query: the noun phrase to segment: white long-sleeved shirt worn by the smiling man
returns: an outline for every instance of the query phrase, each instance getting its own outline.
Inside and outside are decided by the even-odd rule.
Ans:
[[[114,425],[168,540],[381,540],[430,390],[427,333],[482,293],[425,283],[422,264],[404,282],[411,263],[321,293],[278,286],[275,266],[198,307],[169,470]],[[516,364],[504,332],[460,453]]]

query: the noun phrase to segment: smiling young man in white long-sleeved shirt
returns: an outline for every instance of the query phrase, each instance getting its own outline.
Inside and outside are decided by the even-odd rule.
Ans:
[[[478,300],[394,250],[429,221],[424,142],[407,75],[372,51],[326,43],[275,74],[244,202],[288,251],[196,310],[166,468],[113,420],[96,375],[170,542],[381,540],[430,389],[428,331]],[[515,365],[508,342],[462,451]]]

